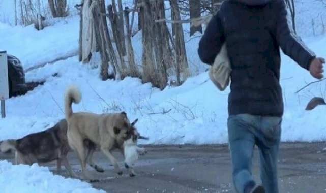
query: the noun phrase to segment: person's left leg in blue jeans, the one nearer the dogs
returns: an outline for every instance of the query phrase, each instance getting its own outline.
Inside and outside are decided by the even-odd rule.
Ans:
[[[243,193],[246,186],[256,183],[252,176],[252,156],[255,145],[257,117],[252,115],[231,115],[228,118],[228,141],[232,161],[232,178],[237,192]]]

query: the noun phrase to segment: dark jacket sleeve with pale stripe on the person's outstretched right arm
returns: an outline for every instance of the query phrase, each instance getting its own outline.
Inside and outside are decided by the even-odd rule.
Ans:
[[[302,68],[309,70],[310,62],[316,57],[300,37],[295,35],[287,20],[284,0],[278,0],[279,14],[276,23],[276,39],[284,54],[297,62]]]

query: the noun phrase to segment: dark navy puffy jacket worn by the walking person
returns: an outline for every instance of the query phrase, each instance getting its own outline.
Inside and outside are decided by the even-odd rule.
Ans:
[[[282,116],[280,47],[304,69],[315,54],[293,33],[284,0],[225,0],[199,42],[211,65],[226,42],[231,61],[228,113]]]

